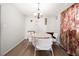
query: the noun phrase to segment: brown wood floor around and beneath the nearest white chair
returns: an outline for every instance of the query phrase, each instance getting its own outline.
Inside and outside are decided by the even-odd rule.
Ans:
[[[53,45],[54,56],[68,56],[66,52],[58,45]],[[51,56],[51,51],[36,51],[36,56]],[[34,47],[28,44],[27,40],[21,42],[18,46],[8,52],[5,56],[34,56]]]

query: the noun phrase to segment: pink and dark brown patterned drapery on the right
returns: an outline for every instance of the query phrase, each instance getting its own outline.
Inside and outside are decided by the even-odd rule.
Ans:
[[[76,55],[79,49],[79,3],[61,13],[60,39],[67,53]]]

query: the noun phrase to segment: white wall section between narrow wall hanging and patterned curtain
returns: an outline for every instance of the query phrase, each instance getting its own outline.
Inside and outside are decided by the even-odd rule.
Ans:
[[[47,20],[47,32],[58,32],[59,27],[58,27],[58,20],[56,16],[50,16],[48,17]]]

